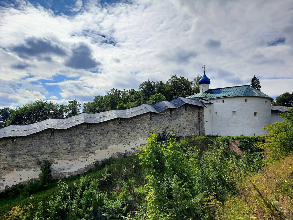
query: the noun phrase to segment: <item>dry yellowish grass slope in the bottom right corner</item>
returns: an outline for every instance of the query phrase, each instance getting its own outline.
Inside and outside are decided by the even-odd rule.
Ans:
[[[264,167],[239,188],[218,211],[218,220],[293,219],[293,156]]]

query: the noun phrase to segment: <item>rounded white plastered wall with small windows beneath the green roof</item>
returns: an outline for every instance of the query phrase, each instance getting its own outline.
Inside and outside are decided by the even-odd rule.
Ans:
[[[245,101],[246,100],[246,101]],[[206,104],[205,134],[257,136],[266,134],[271,123],[270,99],[265,97],[226,97],[209,99]]]

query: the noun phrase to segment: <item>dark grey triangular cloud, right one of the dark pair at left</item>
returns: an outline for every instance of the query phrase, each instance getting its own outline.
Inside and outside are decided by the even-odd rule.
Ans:
[[[65,61],[65,66],[71,67],[73,69],[94,69],[98,65],[101,65],[101,62],[98,61],[93,56],[93,50],[88,45],[84,43],[79,43],[75,45],[71,50],[72,54],[68,60]]]

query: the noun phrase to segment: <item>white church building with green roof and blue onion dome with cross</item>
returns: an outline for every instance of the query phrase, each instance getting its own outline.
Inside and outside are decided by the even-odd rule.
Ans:
[[[264,126],[285,121],[278,113],[290,107],[271,106],[273,99],[250,85],[209,89],[210,79],[200,79],[200,93],[187,98],[202,101],[205,108],[205,135],[257,136]]]

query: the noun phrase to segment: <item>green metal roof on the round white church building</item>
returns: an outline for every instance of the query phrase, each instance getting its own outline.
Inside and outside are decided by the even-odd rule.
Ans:
[[[220,97],[239,97],[239,96],[255,96],[255,97],[271,97],[260,92],[259,90],[255,89],[251,85],[244,85],[244,86],[234,86],[234,87],[225,87],[225,88],[218,88],[218,89],[209,89],[206,92],[200,92],[194,95],[191,95],[187,98],[200,98],[204,97],[206,99],[214,99]]]

